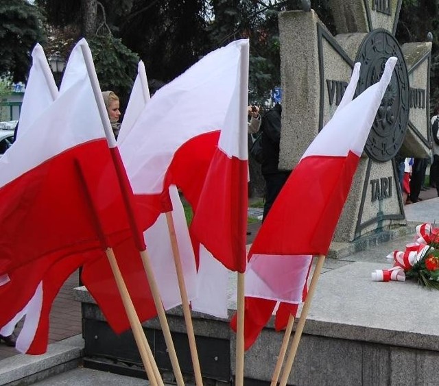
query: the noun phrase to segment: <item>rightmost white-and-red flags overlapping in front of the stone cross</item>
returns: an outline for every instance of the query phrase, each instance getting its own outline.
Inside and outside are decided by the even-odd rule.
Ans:
[[[311,258],[329,250],[395,64],[396,58],[389,58],[381,80],[348,101],[357,84],[359,67],[355,69],[341,108],[300,158],[254,239],[246,272],[246,349],[278,302],[283,321],[277,324],[284,326],[288,312],[282,304],[289,304],[295,315],[297,304],[305,300]]]

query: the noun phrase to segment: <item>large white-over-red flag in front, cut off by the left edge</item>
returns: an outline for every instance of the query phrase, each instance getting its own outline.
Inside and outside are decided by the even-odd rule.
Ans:
[[[0,221],[7,224],[0,235],[0,275],[56,251],[100,247],[77,160],[88,161],[95,176],[87,189],[100,203],[109,246],[127,237],[128,221],[99,114],[84,114],[96,106],[92,98],[78,77],[0,159]]]

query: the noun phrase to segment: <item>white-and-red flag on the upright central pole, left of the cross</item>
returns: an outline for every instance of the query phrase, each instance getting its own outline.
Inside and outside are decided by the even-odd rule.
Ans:
[[[228,269],[246,267],[248,40],[206,55],[147,103],[120,145],[143,224],[170,210],[175,184],[204,245]]]

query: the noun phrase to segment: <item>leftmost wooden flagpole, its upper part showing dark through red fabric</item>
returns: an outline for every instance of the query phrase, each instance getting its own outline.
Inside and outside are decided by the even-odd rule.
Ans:
[[[134,334],[134,339],[137,343],[137,348],[139,349],[139,352],[141,354],[141,359],[143,362],[143,366],[145,367],[148,379],[150,380],[152,385],[163,385],[161,374],[160,372],[158,372],[158,367],[156,365],[156,361],[154,360],[154,356],[152,355],[151,348],[147,343],[147,339],[145,333],[143,332],[141,322],[134,309],[134,304],[132,304],[132,300],[130,298],[130,294],[128,292],[126,284],[123,281],[119,266],[117,265],[115,254],[112,248],[108,248],[107,246],[108,243],[106,242],[106,236],[104,234],[104,230],[102,228],[99,215],[97,215],[95,202],[93,201],[91,193],[88,190],[88,186],[86,184],[86,178],[84,176],[84,171],[82,170],[79,160],[75,160],[75,167],[78,171],[78,175],[82,182],[82,187],[84,188],[83,190],[84,190],[86,201],[88,202],[88,206],[91,208],[91,216],[93,217],[93,223],[95,226],[97,236],[99,237],[99,240],[101,242],[102,249],[105,250],[106,252],[106,256],[108,258],[108,263],[110,263],[112,274],[113,276],[115,276],[117,289],[119,290],[119,293],[121,295],[122,303],[125,308],[126,314],[128,316],[132,333]]]

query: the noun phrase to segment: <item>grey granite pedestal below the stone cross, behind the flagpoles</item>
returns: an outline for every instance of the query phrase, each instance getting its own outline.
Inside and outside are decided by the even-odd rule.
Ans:
[[[439,310],[431,306],[431,291],[414,282],[370,281],[370,272],[389,266],[382,248],[368,252],[368,261],[375,255],[383,263],[353,262],[364,256],[327,260],[288,385],[436,385]],[[236,286],[232,279],[230,285]],[[112,333],[88,292],[75,292],[84,311],[84,365],[145,377],[130,331]],[[410,306],[401,306],[401,299]],[[231,299],[229,307],[230,318],[236,309]],[[167,317],[185,383],[194,384],[182,311],[173,309]],[[233,385],[236,341],[228,319],[193,313],[193,326],[204,385]],[[171,363],[158,321],[143,328],[165,382],[171,383]],[[246,352],[244,385],[270,385],[282,340],[283,333],[276,332],[270,320]]]

